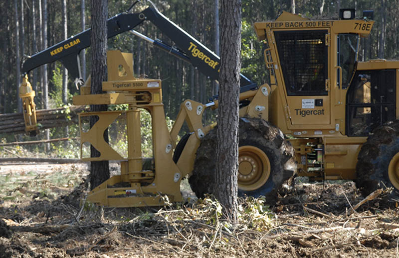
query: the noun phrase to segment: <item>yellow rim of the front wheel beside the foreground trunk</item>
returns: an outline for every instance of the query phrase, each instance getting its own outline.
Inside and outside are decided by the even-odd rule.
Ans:
[[[253,191],[266,183],[270,176],[270,161],[267,155],[254,146],[238,149],[238,188]]]

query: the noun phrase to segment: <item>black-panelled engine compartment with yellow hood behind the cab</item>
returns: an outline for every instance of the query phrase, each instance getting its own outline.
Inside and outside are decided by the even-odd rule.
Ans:
[[[396,119],[398,64],[383,59],[358,64],[347,93],[348,136],[369,136],[375,128]]]

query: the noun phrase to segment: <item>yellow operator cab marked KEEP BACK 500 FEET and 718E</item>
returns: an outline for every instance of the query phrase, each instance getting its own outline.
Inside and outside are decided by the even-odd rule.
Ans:
[[[346,93],[354,78],[360,37],[374,21],[353,19],[343,10],[339,20],[310,20],[283,12],[273,22],[257,22],[270,70],[271,122],[300,137],[345,134]]]

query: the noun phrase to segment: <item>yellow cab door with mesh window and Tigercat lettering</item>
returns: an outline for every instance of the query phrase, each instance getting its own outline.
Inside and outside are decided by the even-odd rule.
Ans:
[[[329,29],[274,31],[290,129],[331,124],[329,35]]]

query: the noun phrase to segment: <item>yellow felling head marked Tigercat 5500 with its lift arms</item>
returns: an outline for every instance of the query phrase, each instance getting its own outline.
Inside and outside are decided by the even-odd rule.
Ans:
[[[88,112],[79,115],[81,132],[81,153],[84,143],[90,143],[99,152],[96,158],[85,161],[123,160],[121,174],[111,177],[88,195],[87,200],[104,206],[137,207],[163,205],[160,194],[171,201],[181,201],[180,182],[194,167],[195,153],[203,138],[215,123],[203,126],[202,115],[208,107],[216,108],[218,102],[203,105],[194,100],[185,100],[180,107],[173,128],[169,131],[162,104],[160,80],[138,80],[132,75],[132,56],[119,51],[108,52],[108,78],[103,82],[103,94],[82,94],[73,97],[75,105],[87,104],[129,104],[127,111]],[[112,60],[112,61],[110,61]],[[121,73],[122,71],[122,73]],[[88,87],[86,83],[85,87]],[[240,94],[240,99],[251,99],[251,103],[240,111],[241,116],[249,115],[268,118],[268,85],[258,90]],[[81,93],[88,93],[88,89]],[[154,171],[143,171],[140,134],[140,109],[148,110],[152,116]],[[122,113],[127,115],[128,157],[121,157],[103,139],[104,130]],[[87,116],[98,116],[98,121],[84,132],[81,120]],[[173,161],[173,150],[177,146],[178,134],[184,122],[193,132],[185,145],[177,164]]]

